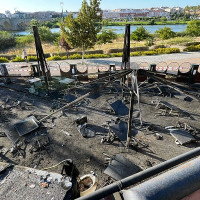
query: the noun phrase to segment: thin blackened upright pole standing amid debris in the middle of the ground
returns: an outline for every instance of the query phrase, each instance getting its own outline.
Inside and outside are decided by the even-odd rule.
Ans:
[[[128,121],[128,130],[127,130],[127,143],[126,143],[127,148],[129,148],[129,144],[130,144],[130,140],[131,140],[133,104],[134,104],[134,92],[131,91],[130,93],[131,93],[131,96],[130,96],[129,121]]]

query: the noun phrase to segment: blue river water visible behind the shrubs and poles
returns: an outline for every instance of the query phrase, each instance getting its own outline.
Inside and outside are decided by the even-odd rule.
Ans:
[[[139,25],[131,25],[131,32],[135,31]],[[163,27],[169,27],[172,29],[174,32],[182,32],[186,29],[187,25],[186,24],[176,24],[176,25],[144,25],[143,27],[146,28],[150,33],[154,33],[160,28]],[[113,30],[117,34],[122,34],[125,32],[125,26],[104,26],[102,28],[103,30]],[[52,28],[51,31],[53,33],[57,33],[60,31],[60,28]],[[19,32],[14,32],[13,34],[17,35],[28,35],[29,33],[26,31],[19,31]]]

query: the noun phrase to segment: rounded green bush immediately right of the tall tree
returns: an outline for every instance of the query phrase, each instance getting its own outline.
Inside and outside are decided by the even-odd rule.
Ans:
[[[117,34],[112,30],[103,30],[101,34],[97,35],[97,44],[112,43],[113,40],[117,39]]]

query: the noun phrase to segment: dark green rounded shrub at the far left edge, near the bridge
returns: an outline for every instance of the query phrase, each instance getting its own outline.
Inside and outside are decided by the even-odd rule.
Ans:
[[[6,31],[0,31],[0,50],[15,46],[15,38]]]

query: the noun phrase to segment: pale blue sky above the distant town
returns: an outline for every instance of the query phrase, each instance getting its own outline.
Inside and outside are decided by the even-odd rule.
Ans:
[[[24,12],[47,10],[61,11],[60,2],[64,3],[64,10],[78,11],[81,7],[82,0],[0,0],[0,13],[4,13],[5,10],[10,10],[12,13],[14,10]],[[185,7],[186,5],[200,5],[200,0],[102,0],[101,8]]]

